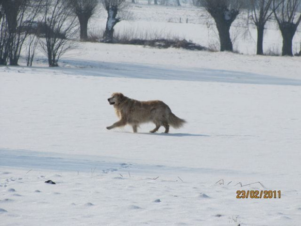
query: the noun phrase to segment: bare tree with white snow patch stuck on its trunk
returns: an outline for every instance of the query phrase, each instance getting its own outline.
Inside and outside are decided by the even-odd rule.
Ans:
[[[113,42],[114,26],[122,20],[120,15],[126,7],[125,0],[101,0],[103,7],[108,13],[107,23],[103,34],[103,41]]]

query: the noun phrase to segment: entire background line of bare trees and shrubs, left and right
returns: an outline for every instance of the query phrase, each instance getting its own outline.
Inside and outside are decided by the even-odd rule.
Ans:
[[[197,0],[214,18],[220,51],[233,51],[230,28],[243,9],[249,8],[257,27],[257,54],[263,54],[265,25],[275,18],[283,36],[282,55],[293,55],[292,40],[301,22],[301,0]],[[28,65],[37,43],[49,66],[58,66],[61,55],[73,47],[80,25],[80,38],[88,38],[88,21],[102,3],[107,11],[104,42],[113,42],[114,26],[122,20],[125,0],[0,0],[0,65],[17,65],[24,41],[30,40]],[[78,21],[78,23],[76,23]],[[42,37],[37,41],[36,37]]]

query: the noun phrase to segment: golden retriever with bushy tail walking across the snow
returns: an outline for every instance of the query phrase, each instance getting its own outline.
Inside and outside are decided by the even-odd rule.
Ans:
[[[120,120],[106,127],[107,129],[130,124],[136,133],[139,124],[153,122],[156,127],[150,131],[151,133],[157,132],[161,125],[165,127],[165,133],[168,133],[169,125],[179,128],[186,122],[175,116],[168,105],[162,101],[137,101],[122,93],[113,93],[108,102],[114,106]]]

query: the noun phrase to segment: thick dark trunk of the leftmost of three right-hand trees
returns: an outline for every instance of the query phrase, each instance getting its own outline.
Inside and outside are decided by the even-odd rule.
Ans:
[[[230,37],[230,26],[228,23],[223,22],[224,20],[216,20],[217,31],[220,41],[220,51],[233,52],[233,45]]]

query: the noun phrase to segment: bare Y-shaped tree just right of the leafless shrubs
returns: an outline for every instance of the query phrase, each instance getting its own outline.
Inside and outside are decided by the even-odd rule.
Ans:
[[[80,22],[80,38],[88,38],[88,21],[95,13],[98,0],[69,0],[69,6]]]

